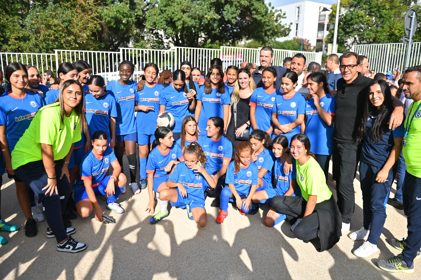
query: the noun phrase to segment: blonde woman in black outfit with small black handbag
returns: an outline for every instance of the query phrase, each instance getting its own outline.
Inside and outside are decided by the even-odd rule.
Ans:
[[[237,144],[240,141],[248,141],[248,135],[245,135],[244,140],[236,139],[235,136],[243,136],[245,129],[250,128],[250,107],[248,103],[254,89],[256,89],[256,84],[254,84],[250,71],[247,68],[241,68],[238,71],[237,83],[231,94],[229,124],[226,129],[226,135],[232,143],[232,154],[235,154]],[[237,109],[237,122],[234,120],[234,108]]]

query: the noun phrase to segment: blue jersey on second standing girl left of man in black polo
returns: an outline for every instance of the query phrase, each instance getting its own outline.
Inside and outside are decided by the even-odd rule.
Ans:
[[[292,123],[297,119],[298,115],[305,113],[306,98],[296,92],[292,97],[285,98],[283,95],[278,95],[275,99],[272,112],[277,114],[278,122],[282,124]],[[291,137],[301,133],[301,125],[291,129],[288,133],[281,133],[280,135],[288,138],[288,142]],[[273,134],[273,136],[277,136]]]

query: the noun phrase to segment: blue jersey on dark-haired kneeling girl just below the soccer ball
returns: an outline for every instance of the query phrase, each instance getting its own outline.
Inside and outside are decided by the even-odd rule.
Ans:
[[[173,146],[168,149],[167,154],[163,154],[158,147],[159,146],[155,147],[149,153],[146,173],[155,173],[155,176],[165,176],[170,174],[165,171],[165,166],[167,166],[171,160],[179,159],[180,161],[184,161],[183,152],[181,152],[180,147],[176,143],[173,143]]]

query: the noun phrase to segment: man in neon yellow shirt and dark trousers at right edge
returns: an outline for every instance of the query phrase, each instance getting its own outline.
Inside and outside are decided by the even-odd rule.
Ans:
[[[393,258],[378,260],[377,266],[389,272],[414,272],[414,259],[420,258],[421,247],[421,65],[404,68],[403,92],[413,99],[405,120],[405,134],[401,143],[406,162],[405,180],[402,186],[403,211],[408,220],[408,237],[390,239],[388,243],[402,251]]]

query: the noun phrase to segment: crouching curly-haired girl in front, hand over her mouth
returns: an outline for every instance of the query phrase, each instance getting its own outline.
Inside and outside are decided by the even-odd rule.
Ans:
[[[207,158],[199,144],[192,142],[183,154],[184,162],[174,167],[160,199],[171,201],[172,206],[186,205],[192,214],[190,220],[203,228],[208,222],[203,192],[205,188],[215,188],[216,183],[205,170]]]

